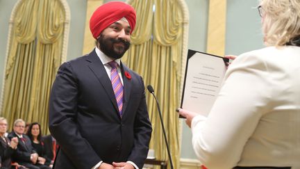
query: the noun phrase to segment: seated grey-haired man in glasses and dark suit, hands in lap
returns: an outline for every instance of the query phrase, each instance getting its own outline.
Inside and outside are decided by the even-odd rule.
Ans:
[[[15,161],[26,168],[39,169],[49,168],[47,166],[38,165],[38,153],[35,152],[31,145],[31,140],[24,134],[25,122],[22,119],[15,120],[13,124],[13,131],[8,134],[8,138],[17,137],[19,144],[17,150],[12,154],[12,161]]]

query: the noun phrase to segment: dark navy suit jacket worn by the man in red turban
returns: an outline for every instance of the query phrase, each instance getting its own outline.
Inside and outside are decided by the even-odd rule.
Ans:
[[[142,168],[152,131],[144,82],[122,63],[121,72],[122,118],[95,51],[60,66],[49,101],[49,129],[60,145],[56,169],[90,169],[99,161],[133,161]]]

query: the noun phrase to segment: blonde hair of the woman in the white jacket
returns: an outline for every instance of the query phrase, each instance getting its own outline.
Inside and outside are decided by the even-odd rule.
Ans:
[[[267,46],[299,45],[300,0],[261,0]]]

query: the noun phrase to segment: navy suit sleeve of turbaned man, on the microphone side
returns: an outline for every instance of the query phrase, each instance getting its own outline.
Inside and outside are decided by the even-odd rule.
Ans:
[[[133,161],[138,168],[142,168],[144,161],[147,158],[149,150],[149,142],[151,139],[151,122],[147,111],[145,88],[142,77],[140,77],[140,85],[142,86],[142,99],[138,106],[138,111],[135,115],[134,122],[134,147],[128,161]]]

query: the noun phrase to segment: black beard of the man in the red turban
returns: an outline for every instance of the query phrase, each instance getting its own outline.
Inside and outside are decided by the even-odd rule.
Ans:
[[[131,43],[126,42],[123,39],[114,39],[114,38],[105,38],[104,35],[100,35],[100,37],[97,40],[100,45],[100,50],[106,54],[106,56],[110,58],[122,58],[122,56],[125,54],[125,52],[129,49]],[[124,47],[118,47],[115,48],[113,45],[114,43],[122,42]]]

